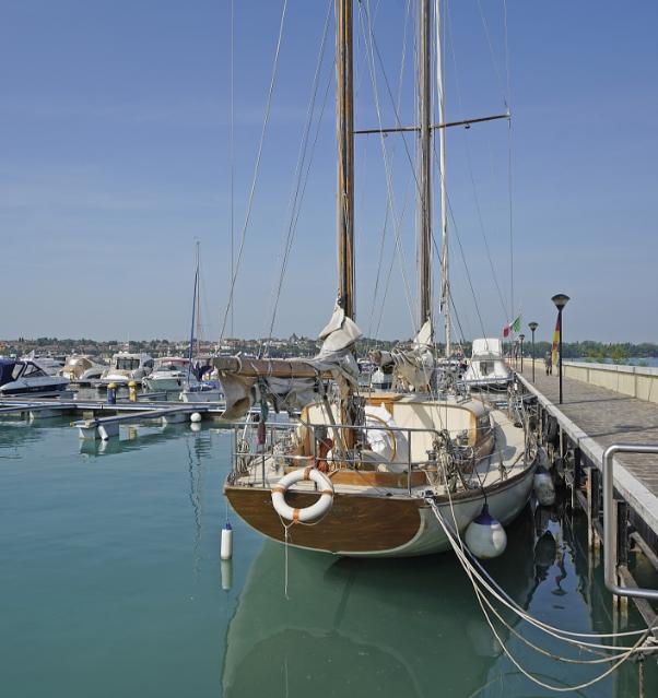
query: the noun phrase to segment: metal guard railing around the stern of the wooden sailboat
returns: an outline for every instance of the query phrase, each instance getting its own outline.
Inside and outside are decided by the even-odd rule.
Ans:
[[[334,435],[338,434],[344,434],[345,431],[353,431],[353,433],[360,433],[360,431],[387,431],[389,434],[392,435],[393,437],[393,442],[397,445],[398,443],[398,435],[401,435],[403,437],[406,437],[407,441],[407,458],[403,460],[389,460],[387,461],[388,465],[403,465],[407,468],[407,471],[403,473],[399,473],[400,475],[407,474],[407,490],[409,493],[409,495],[411,495],[412,492],[412,474],[413,472],[418,472],[419,468],[421,465],[427,465],[427,464],[437,464],[438,463],[438,452],[433,453],[434,451],[434,446],[438,442],[440,443],[444,439],[445,439],[445,435],[447,433],[447,430],[444,430],[443,433],[438,429],[433,429],[433,428],[421,428],[421,427],[398,427],[398,426],[388,426],[385,423],[381,424],[376,424],[376,425],[348,425],[348,424],[339,424],[339,423],[329,423],[329,424],[310,424],[305,422],[302,418],[297,418],[297,421],[295,421],[294,423],[287,423],[287,424],[282,424],[282,423],[272,423],[272,422],[266,422],[266,434],[265,434],[265,441],[261,445],[258,445],[260,447],[259,451],[252,452],[252,451],[242,451],[238,448],[238,443],[240,442],[240,434],[245,434],[245,429],[251,427],[255,428],[258,426],[259,423],[248,423],[248,424],[243,424],[240,427],[235,427],[233,429],[233,471],[234,472],[238,472],[238,468],[237,468],[237,459],[240,458],[247,458],[249,465],[251,465],[254,463],[254,461],[256,459],[258,459],[260,461],[260,470],[261,470],[261,477],[262,477],[262,483],[263,485],[267,483],[267,477],[266,477],[266,459],[268,456],[273,456],[274,458],[281,458],[282,460],[286,461],[286,462],[299,462],[299,464],[302,463],[307,463],[309,458],[317,461],[318,458],[321,457],[318,456],[318,451],[317,451],[317,447],[318,447],[318,441],[320,440],[318,437],[318,431],[320,431],[319,436],[322,436],[325,434],[329,434],[330,431],[333,431]],[[298,427],[305,427],[307,429],[310,430],[312,433],[312,438],[310,438],[310,442],[312,442],[312,453],[310,456],[291,456],[291,454],[286,454],[286,453],[273,453],[272,450],[269,449],[273,449],[274,445],[277,442],[279,442],[279,439],[277,439],[277,435],[279,433],[287,433],[290,435],[293,435]],[[469,431],[469,429],[458,429],[456,430],[458,434],[461,434],[463,431]],[[427,452],[427,457],[422,459],[422,460],[412,460],[412,446],[413,446],[413,436],[416,435],[425,435],[425,436],[430,436],[430,440],[427,446],[430,446],[430,448],[426,449]],[[354,470],[357,470],[356,466],[357,465],[362,465],[363,463],[367,463],[368,461],[363,459],[363,458],[359,458],[359,457],[349,457],[348,453],[345,452],[345,449],[342,447],[342,445],[339,442],[336,442],[337,439],[334,439],[334,446],[333,449],[336,449],[337,451],[337,456],[333,458],[334,462],[340,462],[342,464],[348,464],[351,465],[352,468],[354,468]],[[453,440],[454,442],[454,440]],[[397,446],[396,446],[397,448]],[[455,448],[455,454],[457,454],[457,457],[459,458],[460,456],[468,456],[473,454],[472,451],[472,447],[469,446],[460,446],[455,443],[454,446]],[[397,453],[396,453],[397,454]],[[434,458],[433,458],[434,457]],[[415,470],[414,470],[415,469]]]

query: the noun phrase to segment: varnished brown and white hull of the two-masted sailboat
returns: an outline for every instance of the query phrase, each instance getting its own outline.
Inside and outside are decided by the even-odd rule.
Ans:
[[[490,511],[503,524],[514,520],[530,497],[534,468],[487,487]],[[272,506],[270,489],[226,484],[233,509],[255,530],[279,542],[285,529]],[[317,495],[289,490],[287,502],[307,507]],[[436,498],[445,520],[462,532],[480,513],[484,497],[479,490]],[[295,547],[355,557],[408,557],[440,553],[450,547],[432,509],[422,496],[374,496],[337,492],[329,513],[313,525],[289,528],[287,542]]]

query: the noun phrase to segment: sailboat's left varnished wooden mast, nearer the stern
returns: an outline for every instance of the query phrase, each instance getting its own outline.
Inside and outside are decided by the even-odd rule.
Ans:
[[[354,319],[354,95],[352,87],[352,0],[336,0],[338,140],[338,299]]]

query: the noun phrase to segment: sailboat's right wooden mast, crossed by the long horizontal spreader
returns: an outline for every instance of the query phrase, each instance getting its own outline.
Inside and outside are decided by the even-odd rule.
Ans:
[[[419,0],[419,141],[418,141],[418,256],[419,329],[432,320],[432,97],[430,23],[431,0]]]

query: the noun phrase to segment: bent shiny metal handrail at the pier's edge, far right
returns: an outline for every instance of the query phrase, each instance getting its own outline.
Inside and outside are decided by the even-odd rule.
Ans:
[[[658,601],[658,590],[635,587],[622,587],[616,583],[616,545],[613,520],[614,475],[612,472],[615,453],[654,453],[658,454],[655,443],[613,443],[603,451],[603,571],[606,587],[618,596],[632,596]]]

